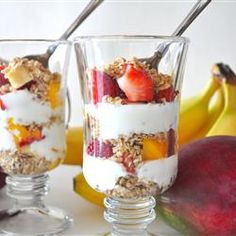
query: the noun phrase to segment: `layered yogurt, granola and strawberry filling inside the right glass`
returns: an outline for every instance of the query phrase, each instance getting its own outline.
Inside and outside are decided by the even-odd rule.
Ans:
[[[177,174],[178,91],[172,77],[133,58],[88,71],[83,171],[119,198],[162,193]]]

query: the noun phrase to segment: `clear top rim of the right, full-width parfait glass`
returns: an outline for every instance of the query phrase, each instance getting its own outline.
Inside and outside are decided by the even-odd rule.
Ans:
[[[124,34],[124,35],[81,35],[81,36],[76,36],[72,39],[72,42],[78,42],[80,40],[85,41],[85,40],[100,40],[100,41],[106,41],[106,40],[117,40],[117,39],[162,39],[162,40],[172,40],[172,41],[182,41],[184,43],[189,43],[190,40],[187,37],[183,36],[167,36],[167,35],[129,35],[129,34]]]

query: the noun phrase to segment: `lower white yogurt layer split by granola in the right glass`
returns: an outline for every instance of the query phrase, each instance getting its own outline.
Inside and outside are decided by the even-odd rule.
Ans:
[[[177,165],[176,155],[160,160],[146,161],[137,170],[137,176],[141,180],[157,183],[165,191],[177,175]],[[90,186],[102,192],[113,189],[119,177],[128,175],[122,164],[87,154],[84,154],[83,173]]]

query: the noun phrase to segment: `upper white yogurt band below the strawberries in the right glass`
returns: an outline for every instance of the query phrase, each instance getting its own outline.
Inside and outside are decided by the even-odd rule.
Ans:
[[[85,112],[99,120],[103,139],[118,138],[130,133],[157,133],[176,128],[178,102],[165,104],[85,105]]]

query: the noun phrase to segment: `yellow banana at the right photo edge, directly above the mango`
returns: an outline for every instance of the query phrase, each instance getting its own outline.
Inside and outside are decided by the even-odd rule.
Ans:
[[[222,88],[225,95],[224,110],[207,136],[236,135],[236,76],[234,75],[234,79],[230,80],[226,78],[222,83]]]

